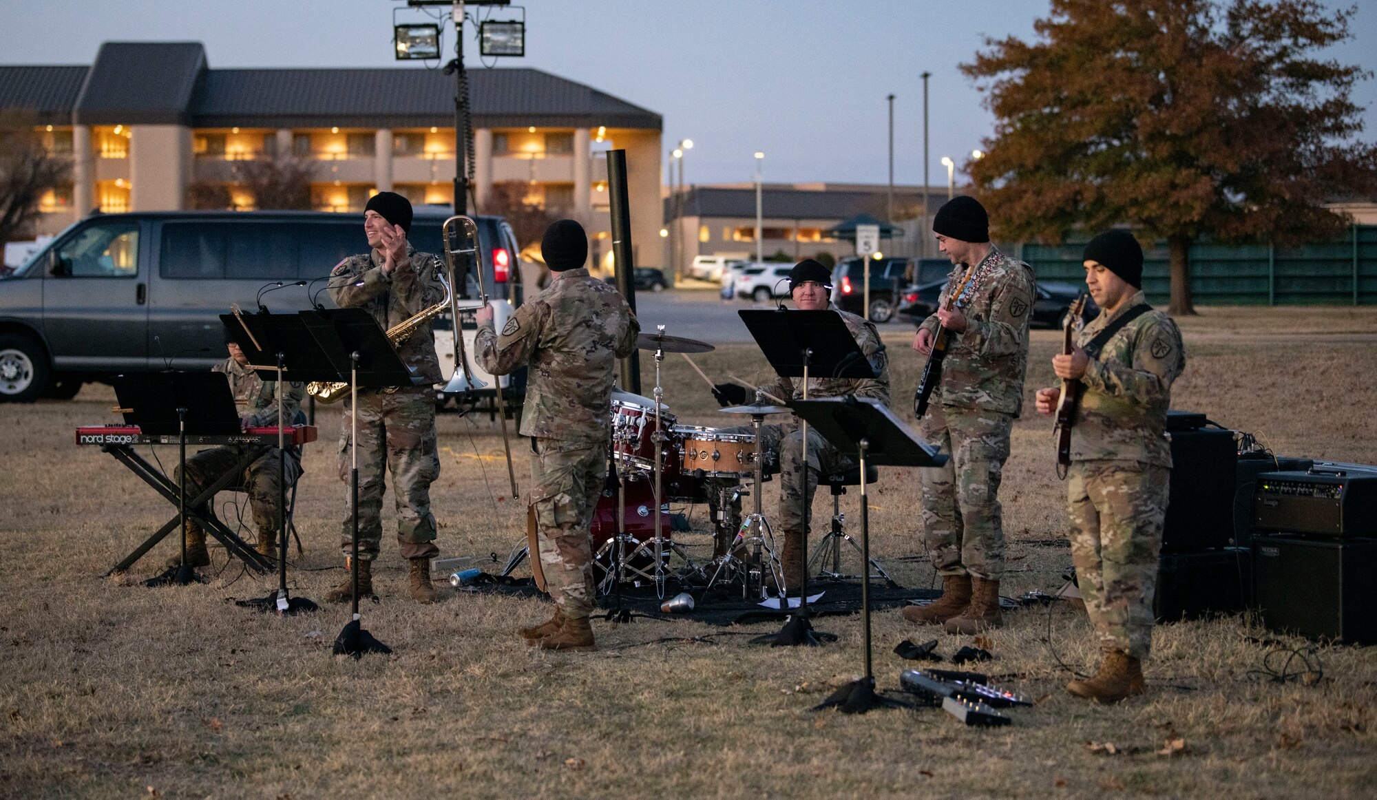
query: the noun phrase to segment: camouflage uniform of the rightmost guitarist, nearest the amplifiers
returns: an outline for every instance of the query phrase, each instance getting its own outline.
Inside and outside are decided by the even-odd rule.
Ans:
[[[1118,314],[1144,303],[1135,293]],[[1111,319],[1081,330],[1085,346]],[[1147,658],[1172,453],[1166,409],[1186,368],[1172,318],[1148,311],[1118,330],[1081,377],[1071,427],[1071,559],[1100,649]]]

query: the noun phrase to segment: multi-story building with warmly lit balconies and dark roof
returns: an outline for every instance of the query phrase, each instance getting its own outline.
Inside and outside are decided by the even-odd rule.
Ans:
[[[627,150],[638,264],[658,266],[660,114],[534,69],[468,72],[474,196],[578,219],[610,256],[609,149]],[[454,78],[438,69],[211,69],[200,43],[106,43],[91,66],[0,66],[0,109],[33,114],[72,183],[37,233],[94,211],[253,207],[248,162],[291,153],[315,208],[362,212],[376,191],[448,205]],[[215,202],[215,201],[212,201]],[[522,242],[538,244],[538,242]]]

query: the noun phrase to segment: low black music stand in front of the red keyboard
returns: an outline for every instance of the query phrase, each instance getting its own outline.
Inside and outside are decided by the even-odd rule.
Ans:
[[[230,394],[229,379],[213,372],[121,375],[116,377],[114,395],[120,401],[120,406],[128,409],[124,412],[125,423],[138,425],[139,431],[147,435],[175,434],[178,438],[176,497],[178,525],[182,527],[182,563],[143,581],[143,585],[151,588],[204,584],[205,578],[186,563],[186,438],[187,435],[213,436],[240,432],[240,416],[234,410],[234,395]]]

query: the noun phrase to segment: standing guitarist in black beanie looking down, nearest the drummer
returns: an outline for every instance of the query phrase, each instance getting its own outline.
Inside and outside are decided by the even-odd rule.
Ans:
[[[943,467],[920,470],[928,556],[942,576],[942,596],[910,606],[903,617],[942,624],[949,633],[976,633],[1002,624],[1000,578],[1004,527],[998,501],[1009,431],[1023,405],[1033,269],[990,244],[985,207],[956,197],[932,219],[938,249],[956,269],[923,321],[913,348],[931,355],[945,337],[942,375],[921,419],[924,439],[950,454]],[[947,295],[960,288],[947,308]]]

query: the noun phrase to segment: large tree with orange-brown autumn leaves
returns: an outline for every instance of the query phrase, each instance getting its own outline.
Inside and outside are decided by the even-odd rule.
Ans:
[[[1128,224],[1165,238],[1172,314],[1194,313],[1190,248],[1296,245],[1377,191],[1349,99],[1367,74],[1322,58],[1356,8],[1318,0],[1052,0],[1037,41],[986,40],[963,65],[997,123],[968,164],[1005,238]]]

